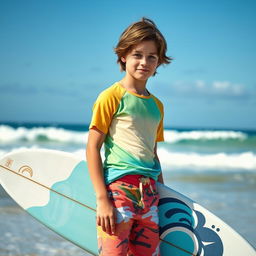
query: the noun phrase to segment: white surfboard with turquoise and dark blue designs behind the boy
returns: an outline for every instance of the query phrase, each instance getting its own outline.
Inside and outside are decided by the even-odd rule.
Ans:
[[[0,159],[0,183],[28,213],[87,252],[97,255],[96,204],[87,164],[73,154],[26,149]],[[255,256],[226,223],[171,188],[160,193],[162,256]]]

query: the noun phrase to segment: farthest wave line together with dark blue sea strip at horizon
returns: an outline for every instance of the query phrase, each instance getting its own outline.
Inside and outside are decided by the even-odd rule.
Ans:
[[[81,125],[68,126],[18,126],[0,125],[0,143],[8,143],[15,141],[59,141],[63,143],[84,143],[87,138],[86,128],[81,131]],[[66,126],[67,127],[67,126]],[[73,129],[72,129],[73,128]],[[239,143],[252,141],[256,146],[256,131],[233,131],[233,130],[182,130],[182,129],[166,129],[165,141],[168,143],[191,143],[199,141],[237,141]]]

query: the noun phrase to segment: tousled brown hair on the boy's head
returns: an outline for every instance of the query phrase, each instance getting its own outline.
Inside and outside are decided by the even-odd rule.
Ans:
[[[158,66],[171,62],[172,58],[166,56],[167,43],[164,36],[152,20],[143,17],[140,21],[131,24],[119,38],[115,53],[118,56],[117,63],[120,64],[121,71],[126,69],[125,63],[122,62],[121,58],[126,56],[134,46],[142,41],[149,40],[156,43],[159,57]]]

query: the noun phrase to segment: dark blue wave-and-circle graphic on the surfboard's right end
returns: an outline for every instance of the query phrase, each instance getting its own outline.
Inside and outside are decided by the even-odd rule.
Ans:
[[[223,255],[223,243],[217,229],[214,231],[204,227],[204,215],[191,209],[183,201],[172,197],[161,198],[159,221],[160,237],[177,247],[184,248],[184,251],[181,251],[175,246],[170,247],[162,242],[160,245],[162,254],[188,256],[190,252],[197,256]]]

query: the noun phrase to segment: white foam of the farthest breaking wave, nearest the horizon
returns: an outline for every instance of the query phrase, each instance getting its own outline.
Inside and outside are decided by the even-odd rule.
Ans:
[[[177,143],[183,140],[245,140],[247,134],[239,131],[177,131],[165,130],[165,141]],[[56,127],[13,128],[0,125],[0,143],[15,143],[17,141],[42,142],[54,141],[61,143],[84,144],[87,142],[88,132],[71,131]]]

